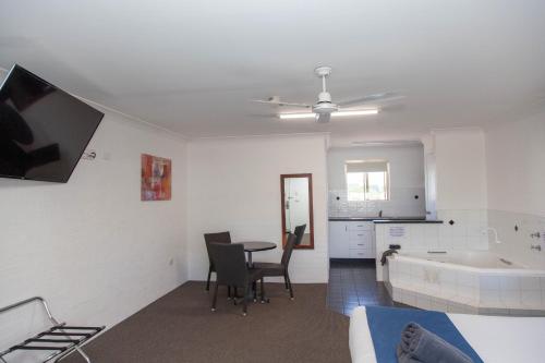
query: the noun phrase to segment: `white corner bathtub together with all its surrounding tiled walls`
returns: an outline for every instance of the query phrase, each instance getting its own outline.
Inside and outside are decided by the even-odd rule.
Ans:
[[[438,210],[438,218],[443,225],[375,226],[377,280],[395,301],[453,313],[545,315],[544,217],[483,209]],[[378,258],[389,244],[401,245],[401,254],[383,267]],[[441,254],[429,251],[447,253],[434,258]]]

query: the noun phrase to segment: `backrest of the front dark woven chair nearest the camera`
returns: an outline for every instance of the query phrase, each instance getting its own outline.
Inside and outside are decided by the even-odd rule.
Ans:
[[[217,282],[245,287],[247,285],[247,268],[244,245],[238,243],[207,243],[207,245],[216,267]]]

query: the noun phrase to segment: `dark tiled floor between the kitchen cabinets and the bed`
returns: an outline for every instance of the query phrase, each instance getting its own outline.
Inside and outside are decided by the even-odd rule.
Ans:
[[[332,259],[327,304],[349,316],[358,305],[405,306],[393,302],[384,282],[376,281],[374,259]]]

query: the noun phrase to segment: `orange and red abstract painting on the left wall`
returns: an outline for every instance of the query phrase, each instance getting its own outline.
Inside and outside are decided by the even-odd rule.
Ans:
[[[171,172],[170,159],[142,154],[142,201],[170,201]]]

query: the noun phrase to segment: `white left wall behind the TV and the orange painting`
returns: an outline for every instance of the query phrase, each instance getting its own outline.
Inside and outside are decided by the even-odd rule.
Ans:
[[[66,184],[0,179],[0,306],[41,295],[59,319],[111,327],[186,280],[185,143],[106,113]],[[141,202],[142,153],[172,159],[172,201]],[[29,311],[0,317],[0,348],[41,320]]]

